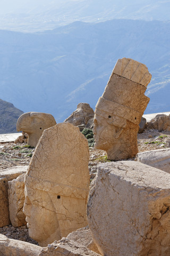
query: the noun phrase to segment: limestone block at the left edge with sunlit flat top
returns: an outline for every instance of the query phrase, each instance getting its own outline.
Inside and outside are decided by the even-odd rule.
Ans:
[[[10,225],[8,206],[8,181],[17,178],[27,171],[28,166],[16,166],[0,172],[0,227]]]

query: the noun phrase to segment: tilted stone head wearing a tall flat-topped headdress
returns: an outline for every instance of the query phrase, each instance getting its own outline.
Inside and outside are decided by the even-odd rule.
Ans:
[[[108,159],[126,159],[138,153],[137,134],[149,102],[145,91],[150,79],[142,63],[126,58],[117,61],[94,117],[95,147],[106,150]]]

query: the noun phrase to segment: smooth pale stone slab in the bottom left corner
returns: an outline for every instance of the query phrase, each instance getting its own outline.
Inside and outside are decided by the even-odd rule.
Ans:
[[[38,256],[42,248],[0,234],[0,256]]]

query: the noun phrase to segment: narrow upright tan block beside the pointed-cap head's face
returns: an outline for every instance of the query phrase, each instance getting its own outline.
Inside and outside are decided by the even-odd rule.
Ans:
[[[22,174],[18,178],[8,181],[8,202],[10,220],[13,227],[21,227],[27,224],[25,215],[22,212],[25,200],[24,177],[25,174]]]

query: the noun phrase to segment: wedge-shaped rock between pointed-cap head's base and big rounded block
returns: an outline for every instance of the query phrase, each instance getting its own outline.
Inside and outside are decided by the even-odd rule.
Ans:
[[[89,226],[86,226],[84,228],[80,228],[76,231],[73,231],[66,237],[67,239],[70,239],[74,242],[77,242],[81,244],[82,246],[87,247],[91,251],[94,251],[96,253],[99,253],[99,250],[97,249],[96,244],[94,243],[94,240],[92,238],[92,233],[89,228]]]

